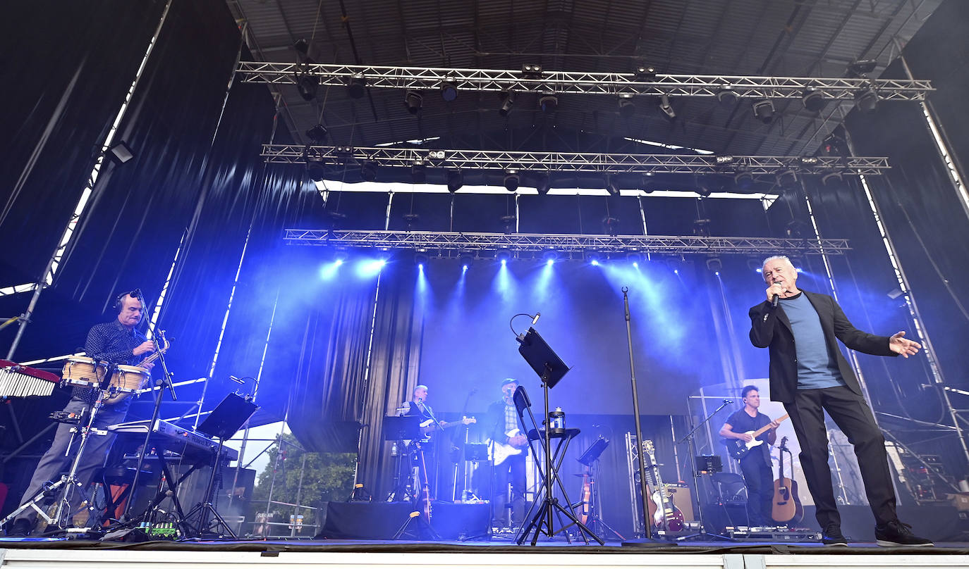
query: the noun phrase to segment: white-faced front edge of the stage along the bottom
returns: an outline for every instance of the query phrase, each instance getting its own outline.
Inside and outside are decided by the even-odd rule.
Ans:
[[[648,555],[648,556],[644,556]],[[641,548],[619,543],[607,546],[564,545],[543,541],[538,547],[509,542],[389,542],[350,540],[143,542],[108,543],[67,540],[0,540],[0,566],[130,567],[164,563],[182,567],[641,567],[693,569],[784,569],[814,567],[964,567],[969,544],[938,544],[933,548],[880,548],[873,544],[845,547],[781,543],[661,544]]]

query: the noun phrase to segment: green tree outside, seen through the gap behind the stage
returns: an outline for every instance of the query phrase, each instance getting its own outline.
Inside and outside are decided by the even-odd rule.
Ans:
[[[303,506],[319,507],[321,502],[343,500],[350,495],[354,483],[354,464],[357,455],[353,453],[307,453],[292,434],[281,434],[266,453],[269,464],[259,473],[259,480],[253,490],[248,520],[255,520],[257,513],[266,512],[266,500],[271,487],[273,502],[298,503]],[[282,453],[280,454],[280,446]],[[300,479],[302,484],[300,485]],[[299,510],[303,524],[315,524],[319,519],[315,510],[306,510],[279,503],[269,504],[269,512],[276,513],[275,522],[285,522]],[[280,533],[279,526],[273,533]]]

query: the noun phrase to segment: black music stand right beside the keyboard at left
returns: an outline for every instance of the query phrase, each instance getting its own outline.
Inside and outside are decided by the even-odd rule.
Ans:
[[[222,400],[222,403],[212,409],[212,412],[205,417],[202,424],[196,428],[196,431],[199,433],[218,438],[219,447],[212,457],[212,471],[208,475],[208,486],[205,488],[204,501],[196,504],[188,514],[185,514],[185,525],[190,528],[192,526],[188,524],[188,520],[192,519],[192,516],[199,516],[199,524],[193,528],[195,529],[195,535],[193,537],[201,538],[203,535],[222,537],[221,533],[208,531],[208,516],[211,515],[218,523],[216,527],[221,526],[225,530],[225,533],[228,533],[233,539],[237,539],[232,527],[226,524],[225,519],[219,515],[215,506],[212,505],[212,492],[215,490],[215,476],[218,473],[219,462],[222,459],[223,445],[238,432],[239,428],[249,420],[249,417],[252,417],[252,414],[258,408],[259,405],[252,403],[252,400],[235,393],[230,393]]]

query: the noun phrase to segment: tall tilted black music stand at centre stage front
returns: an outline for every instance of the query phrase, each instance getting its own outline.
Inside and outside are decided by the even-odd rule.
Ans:
[[[535,514],[535,517],[530,523],[528,523],[524,532],[518,536],[517,543],[521,545],[524,539],[528,536],[531,529],[534,528],[535,534],[532,537],[532,545],[538,542],[539,533],[543,531],[543,526],[545,526],[544,531],[548,537],[555,535],[556,531],[553,524],[553,516],[557,513],[568,518],[572,524],[575,524],[579,531],[581,532],[582,539],[585,539],[585,535],[591,535],[599,545],[604,545],[602,539],[589,530],[584,524],[578,521],[575,514],[569,508],[562,506],[558,503],[558,499],[552,495],[554,492],[555,484],[558,484],[560,488],[562,486],[561,481],[558,479],[558,469],[557,466],[552,464],[552,449],[551,449],[551,423],[548,420],[548,389],[554,387],[565,374],[569,373],[569,367],[565,365],[562,358],[551,349],[547,342],[535,331],[535,328],[528,328],[528,333],[523,337],[516,337],[518,341],[518,353],[521,357],[525,358],[528,365],[531,366],[535,374],[542,379],[542,394],[545,400],[545,429],[540,429],[538,425],[535,426],[536,430],[542,436],[543,441],[543,451],[545,452],[545,497],[542,500],[542,506],[539,511]],[[520,387],[519,387],[520,389]],[[521,416],[519,411],[519,417]],[[534,418],[533,418],[534,421]],[[522,417],[522,426],[524,423],[524,418]],[[529,437],[531,438],[531,437]],[[567,438],[564,440],[568,440]],[[535,454],[535,448],[529,444],[529,448],[532,453]],[[563,455],[564,456],[564,455]],[[539,457],[535,457],[536,460]],[[538,498],[536,498],[537,500]],[[535,507],[535,504],[532,504]],[[531,508],[529,509],[531,512]],[[524,522],[524,521],[522,521]],[[571,525],[571,524],[570,524]],[[559,531],[565,529],[565,527],[560,527]],[[587,540],[586,540],[587,542]]]

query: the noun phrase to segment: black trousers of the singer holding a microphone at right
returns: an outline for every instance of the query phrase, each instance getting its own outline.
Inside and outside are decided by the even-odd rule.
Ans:
[[[797,434],[800,465],[822,529],[841,524],[828,467],[828,430],[824,411],[828,411],[855,447],[861,481],[875,522],[885,524],[897,519],[885,437],[864,398],[847,387],[804,389],[797,390],[794,403],[784,404],[784,408],[790,413]]]

